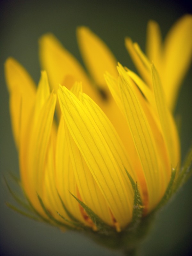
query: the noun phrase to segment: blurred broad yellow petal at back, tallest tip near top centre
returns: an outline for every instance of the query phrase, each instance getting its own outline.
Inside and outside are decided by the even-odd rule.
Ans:
[[[77,28],[77,40],[84,63],[94,82],[98,86],[106,88],[103,74],[108,71],[112,76],[117,77],[118,75],[117,61],[112,52],[89,28]]]

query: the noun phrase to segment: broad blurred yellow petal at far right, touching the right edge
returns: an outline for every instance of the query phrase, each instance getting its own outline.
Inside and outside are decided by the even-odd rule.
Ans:
[[[170,29],[164,42],[164,72],[161,75],[169,108],[175,107],[179,86],[192,57],[192,15],[185,15]]]

